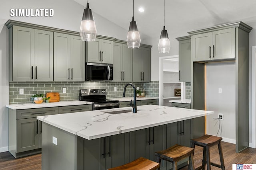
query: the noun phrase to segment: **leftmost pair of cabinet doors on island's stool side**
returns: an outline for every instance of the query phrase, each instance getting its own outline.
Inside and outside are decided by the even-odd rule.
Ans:
[[[78,137],[82,141],[83,149],[79,152],[82,156],[83,170],[107,170],[130,162],[130,133],[121,133],[100,139],[87,140]]]

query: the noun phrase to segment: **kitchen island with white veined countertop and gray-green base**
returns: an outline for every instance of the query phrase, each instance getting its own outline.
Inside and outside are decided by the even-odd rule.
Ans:
[[[154,160],[155,151],[178,143],[179,133],[180,136],[186,133],[189,139],[194,134],[202,135],[204,126],[193,121],[214,113],[156,105],[138,106],[138,113],[107,113],[131,109],[37,117],[42,121],[44,132],[42,169],[103,170],[128,163],[138,156]],[[182,124],[178,124],[181,121],[183,129]],[[189,121],[188,128],[184,121]],[[166,164],[161,168],[166,169]]]

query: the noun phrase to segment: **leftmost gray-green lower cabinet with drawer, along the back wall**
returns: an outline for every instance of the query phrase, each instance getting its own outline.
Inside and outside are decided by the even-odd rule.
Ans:
[[[58,113],[58,107],[9,109],[9,152],[15,158],[41,152],[42,124],[36,116]]]

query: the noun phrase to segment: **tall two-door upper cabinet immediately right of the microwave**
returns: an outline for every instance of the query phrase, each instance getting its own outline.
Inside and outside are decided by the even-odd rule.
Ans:
[[[126,44],[114,43],[113,70],[114,81],[132,81],[132,49],[129,49]]]

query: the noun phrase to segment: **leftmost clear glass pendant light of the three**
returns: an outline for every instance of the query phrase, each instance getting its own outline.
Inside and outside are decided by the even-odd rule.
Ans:
[[[80,36],[82,41],[95,41],[96,33],[97,29],[92,15],[92,10],[89,8],[89,3],[87,0],[87,6],[86,9],[84,9],[80,26]]]

